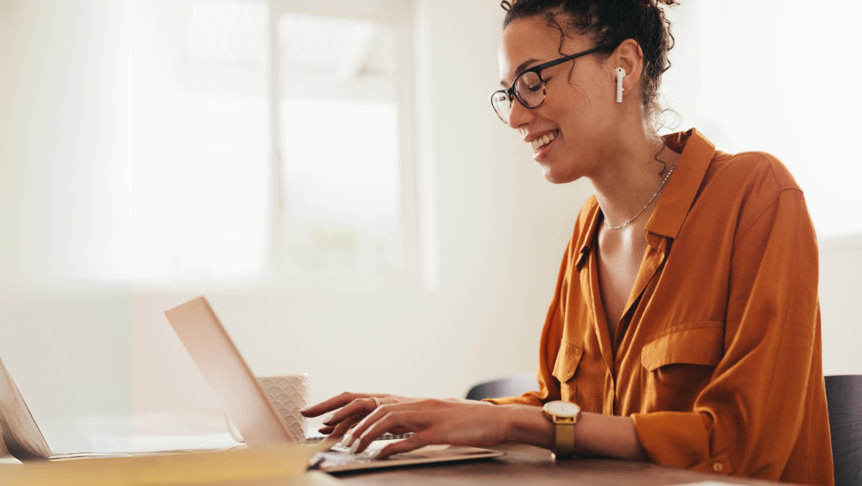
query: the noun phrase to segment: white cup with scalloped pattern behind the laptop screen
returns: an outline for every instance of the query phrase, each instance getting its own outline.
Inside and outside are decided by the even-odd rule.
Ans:
[[[261,388],[270,398],[287,430],[294,435],[298,443],[305,442],[309,424],[299,411],[311,404],[311,383],[308,373],[289,374],[284,376],[258,377]],[[245,442],[239,431],[234,427],[231,418],[224,415],[231,436],[238,442]]]

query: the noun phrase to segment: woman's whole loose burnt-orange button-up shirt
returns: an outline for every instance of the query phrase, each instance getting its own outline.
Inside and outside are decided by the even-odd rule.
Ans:
[[[647,252],[615,336],[599,297],[592,197],[577,218],[539,349],[540,389],[631,416],[655,463],[833,484],[817,296],[803,192],[766,153],[717,151],[692,129],[647,222]]]

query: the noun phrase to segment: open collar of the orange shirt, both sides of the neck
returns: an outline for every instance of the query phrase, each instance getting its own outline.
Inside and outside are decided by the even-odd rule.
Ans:
[[[677,167],[673,170],[673,175],[668,179],[667,186],[662,192],[658,206],[653,211],[653,216],[650,216],[649,221],[647,221],[646,230],[647,236],[649,233],[655,233],[676,239],[682,223],[686,221],[689,209],[694,204],[694,196],[697,195],[697,191],[701,187],[703,176],[709,169],[709,162],[712,161],[716,153],[716,146],[712,145],[712,142],[706,137],[703,137],[703,134],[697,129],[672,133],[662,138],[670,150],[680,153],[680,156]],[[590,247],[592,247],[596,231],[599,229],[599,215],[601,214],[599,202],[595,196],[590,196],[587,204],[592,206],[592,211],[587,218],[587,231],[581,233],[581,239],[576,246],[579,249],[575,263],[578,271],[581,270],[587,255],[590,254]],[[649,238],[647,240],[650,241],[651,246],[657,245],[657,242]]]

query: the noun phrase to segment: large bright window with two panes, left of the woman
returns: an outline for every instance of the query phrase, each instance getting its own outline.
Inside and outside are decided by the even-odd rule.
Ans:
[[[405,278],[407,13],[137,1],[136,282]]]

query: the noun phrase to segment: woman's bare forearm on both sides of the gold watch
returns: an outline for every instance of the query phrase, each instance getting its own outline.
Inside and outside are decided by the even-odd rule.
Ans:
[[[505,409],[506,440],[552,450],[554,425],[542,409],[529,405],[498,405]],[[575,426],[575,454],[629,460],[647,460],[629,417],[584,412]]]

